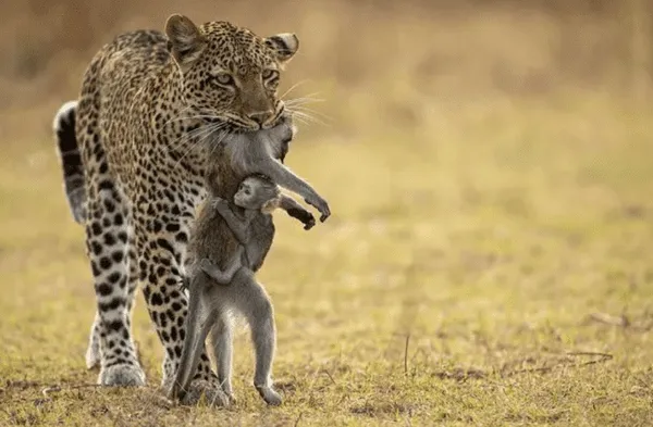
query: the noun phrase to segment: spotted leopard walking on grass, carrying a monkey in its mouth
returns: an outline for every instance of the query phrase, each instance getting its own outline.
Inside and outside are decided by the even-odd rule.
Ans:
[[[99,366],[99,385],[146,384],[132,331],[137,286],[164,348],[161,386],[173,381],[188,315],[180,284],[189,228],[207,196],[208,154],[232,136],[292,121],[279,85],[298,47],[293,33],[261,37],[226,21],[197,25],[173,14],[163,32],[126,32],[100,48],[78,98],[57,112],[64,190],[84,226],[93,273],[86,364]],[[305,201],[321,221],[329,216],[319,196]],[[189,390],[189,402],[202,394],[227,402],[206,351]]]

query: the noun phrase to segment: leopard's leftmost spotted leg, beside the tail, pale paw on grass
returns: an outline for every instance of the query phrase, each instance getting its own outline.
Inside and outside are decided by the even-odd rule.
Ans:
[[[93,78],[93,73],[86,76]],[[95,87],[87,83],[85,87]],[[131,210],[111,174],[99,129],[97,93],[83,93],[76,136],[84,159],[86,248],[94,276],[97,312],[87,364],[97,363],[104,386],[145,385],[131,331],[137,264],[130,259]],[[94,338],[95,337],[95,338]],[[99,339],[98,339],[99,338]],[[97,340],[97,341],[94,341]],[[96,344],[99,342],[99,346]]]

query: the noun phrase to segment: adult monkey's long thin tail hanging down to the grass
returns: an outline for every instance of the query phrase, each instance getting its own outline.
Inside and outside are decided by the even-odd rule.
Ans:
[[[188,386],[205,348],[205,340],[213,323],[214,317],[211,316],[210,304],[204,301],[208,286],[210,286],[210,282],[201,273],[194,275],[190,279],[186,336],[180,366],[169,394],[171,399],[178,398],[183,400],[186,397]]]

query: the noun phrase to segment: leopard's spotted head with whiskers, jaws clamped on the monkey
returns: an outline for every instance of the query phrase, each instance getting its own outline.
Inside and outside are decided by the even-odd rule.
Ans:
[[[172,15],[168,48],[183,78],[187,115],[224,123],[229,130],[273,127],[284,111],[280,73],[299,48],[294,34],[259,37],[227,22],[195,25]]]

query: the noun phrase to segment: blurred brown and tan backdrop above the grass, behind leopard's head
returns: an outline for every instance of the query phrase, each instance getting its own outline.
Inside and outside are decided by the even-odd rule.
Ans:
[[[2,131],[24,131],[29,114],[32,135],[49,133],[53,109],[75,97],[101,45],[161,29],[174,12],[259,35],[295,32],[300,54],[284,83],[320,92],[319,110],[336,124],[318,129],[328,133],[362,130],[361,120],[415,127],[434,120],[433,109],[497,97],[646,99],[653,73],[648,0],[7,0]]]

